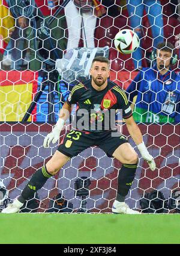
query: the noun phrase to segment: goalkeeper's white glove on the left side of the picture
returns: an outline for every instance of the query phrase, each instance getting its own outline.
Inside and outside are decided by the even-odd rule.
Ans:
[[[47,134],[46,138],[44,139],[44,144],[43,144],[44,148],[49,148],[50,142],[52,142],[54,144],[59,140],[59,136],[60,136],[61,130],[64,126],[64,123],[65,123],[65,121],[62,118],[58,119],[52,132]]]

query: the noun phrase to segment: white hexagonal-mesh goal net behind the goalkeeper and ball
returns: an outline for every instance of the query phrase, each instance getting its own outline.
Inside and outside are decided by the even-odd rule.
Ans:
[[[151,53],[159,42],[172,43],[179,57],[178,1],[175,5],[168,0],[140,1],[143,4],[131,3],[139,1],[102,0],[101,3],[95,1],[96,9],[94,1],[87,1],[87,8],[93,2],[90,11],[93,16],[91,26],[94,23],[94,27],[88,27],[91,30],[89,36],[86,29],[89,26],[88,12],[76,7],[79,16],[84,17],[74,37],[71,37],[72,28],[75,30],[78,24],[73,23],[71,17],[69,25],[70,17],[65,10],[71,1],[59,1],[55,7],[48,7],[45,0],[27,0],[25,6],[20,2],[0,1],[0,180],[8,190],[8,201],[20,195],[32,174],[47,163],[64,134],[71,130],[70,123],[67,123],[59,142],[47,149],[43,147],[44,138],[52,131],[58,112],[74,85],[89,78],[89,65],[95,56],[109,58],[110,79],[124,90],[141,68],[152,67]],[[151,13],[152,7],[154,13]],[[56,10],[60,10],[58,14]],[[140,19],[139,25],[133,23],[134,15],[136,21]],[[125,28],[138,34],[139,55],[137,52],[121,54],[115,49],[113,39],[119,30]],[[172,70],[178,72],[178,61],[170,72]],[[161,122],[154,114],[146,122],[140,118],[137,123],[157,169],[154,172],[149,169],[123,123],[122,134],[127,136],[139,155],[136,177],[125,201],[130,208],[140,211],[146,193],[157,190],[164,198],[157,193],[154,199],[148,199],[146,208],[154,210],[151,202],[160,198],[163,200],[158,208],[160,212],[179,212],[180,192],[172,198],[174,191],[180,191],[179,123],[175,120]],[[111,213],[119,169],[121,163],[118,160],[107,157],[97,146],[88,148],[71,158],[38,191],[40,204],[33,210]],[[55,199],[56,195],[59,195],[59,201]],[[168,208],[171,199],[174,199],[174,207]],[[26,210],[33,211],[29,205],[26,204]],[[1,207],[5,207],[4,204]]]

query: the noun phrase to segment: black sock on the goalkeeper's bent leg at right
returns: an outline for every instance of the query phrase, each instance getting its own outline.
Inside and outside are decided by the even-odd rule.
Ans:
[[[125,196],[127,196],[131,188],[131,184],[133,183],[136,168],[137,164],[122,164],[122,168],[119,170],[118,175],[118,191],[116,196],[117,201],[125,201]]]

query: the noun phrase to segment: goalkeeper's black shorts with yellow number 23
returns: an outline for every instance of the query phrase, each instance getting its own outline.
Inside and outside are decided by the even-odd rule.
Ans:
[[[75,157],[83,150],[90,146],[98,146],[106,152],[108,157],[112,157],[113,152],[123,143],[128,143],[127,139],[122,136],[121,133],[116,133],[116,136],[112,136],[111,131],[106,131],[101,134],[93,134],[89,132],[74,131],[64,136],[61,144],[58,147],[58,151],[68,157]]]

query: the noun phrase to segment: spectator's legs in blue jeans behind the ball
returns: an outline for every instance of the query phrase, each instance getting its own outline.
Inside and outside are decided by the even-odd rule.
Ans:
[[[144,10],[146,11],[149,23],[151,25],[153,46],[156,48],[158,43],[163,41],[163,14],[160,0],[127,0],[127,8],[130,19],[130,26],[139,36],[143,37],[142,20]],[[142,43],[140,40],[140,47]],[[142,68],[142,49],[138,48],[133,52],[134,69]]]

